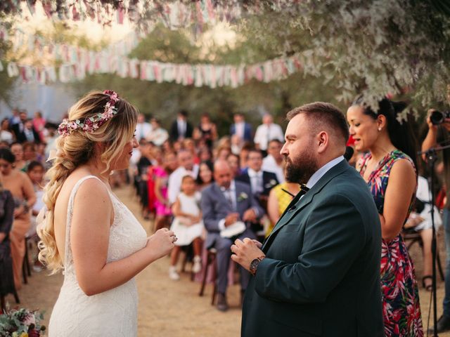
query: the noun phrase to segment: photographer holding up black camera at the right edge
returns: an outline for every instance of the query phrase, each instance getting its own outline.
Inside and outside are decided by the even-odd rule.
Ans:
[[[428,110],[427,117],[428,133],[422,143],[422,151],[430,150],[432,147],[450,145],[450,116],[449,112],[438,112]],[[426,156],[423,154],[426,161]],[[442,151],[444,163],[444,183],[446,186],[447,200],[444,206],[444,231],[446,248],[446,272],[445,272],[445,297],[442,303],[444,313],[437,321],[437,332],[450,330],[450,149]],[[431,331],[433,328],[431,328]]]

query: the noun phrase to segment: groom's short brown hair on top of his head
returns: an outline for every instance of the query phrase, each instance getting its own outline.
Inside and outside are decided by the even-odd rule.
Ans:
[[[345,120],[344,114],[333,104],[324,102],[314,102],[296,107],[290,110],[286,115],[286,119],[290,121],[297,114],[304,114],[310,124],[319,131],[319,128],[326,127],[330,131],[338,131],[342,136],[342,140],[347,143],[349,139],[349,127]]]

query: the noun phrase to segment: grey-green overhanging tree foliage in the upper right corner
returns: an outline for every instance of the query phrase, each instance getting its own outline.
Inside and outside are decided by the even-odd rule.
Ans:
[[[250,40],[300,53],[304,74],[332,80],[336,98],[368,103],[387,93],[423,107],[444,103],[450,83],[450,19],[428,1],[302,1],[246,20]]]

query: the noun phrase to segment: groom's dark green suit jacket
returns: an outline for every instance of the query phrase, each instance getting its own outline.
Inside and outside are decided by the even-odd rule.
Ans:
[[[295,197],[262,250],[242,336],[384,336],[380,220],[347,161]]]

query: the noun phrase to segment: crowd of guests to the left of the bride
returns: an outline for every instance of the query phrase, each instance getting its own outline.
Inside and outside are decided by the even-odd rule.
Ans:
[[[29,118],[27,112],[13,110],[1,121],[0,131],[0,295],[17,291],[23,282],[26,244],[34,244],[32,268],[40,271],[37,260],[36,218],[42,201],[44,174],[56,126],[46,125],[40,112]]]

